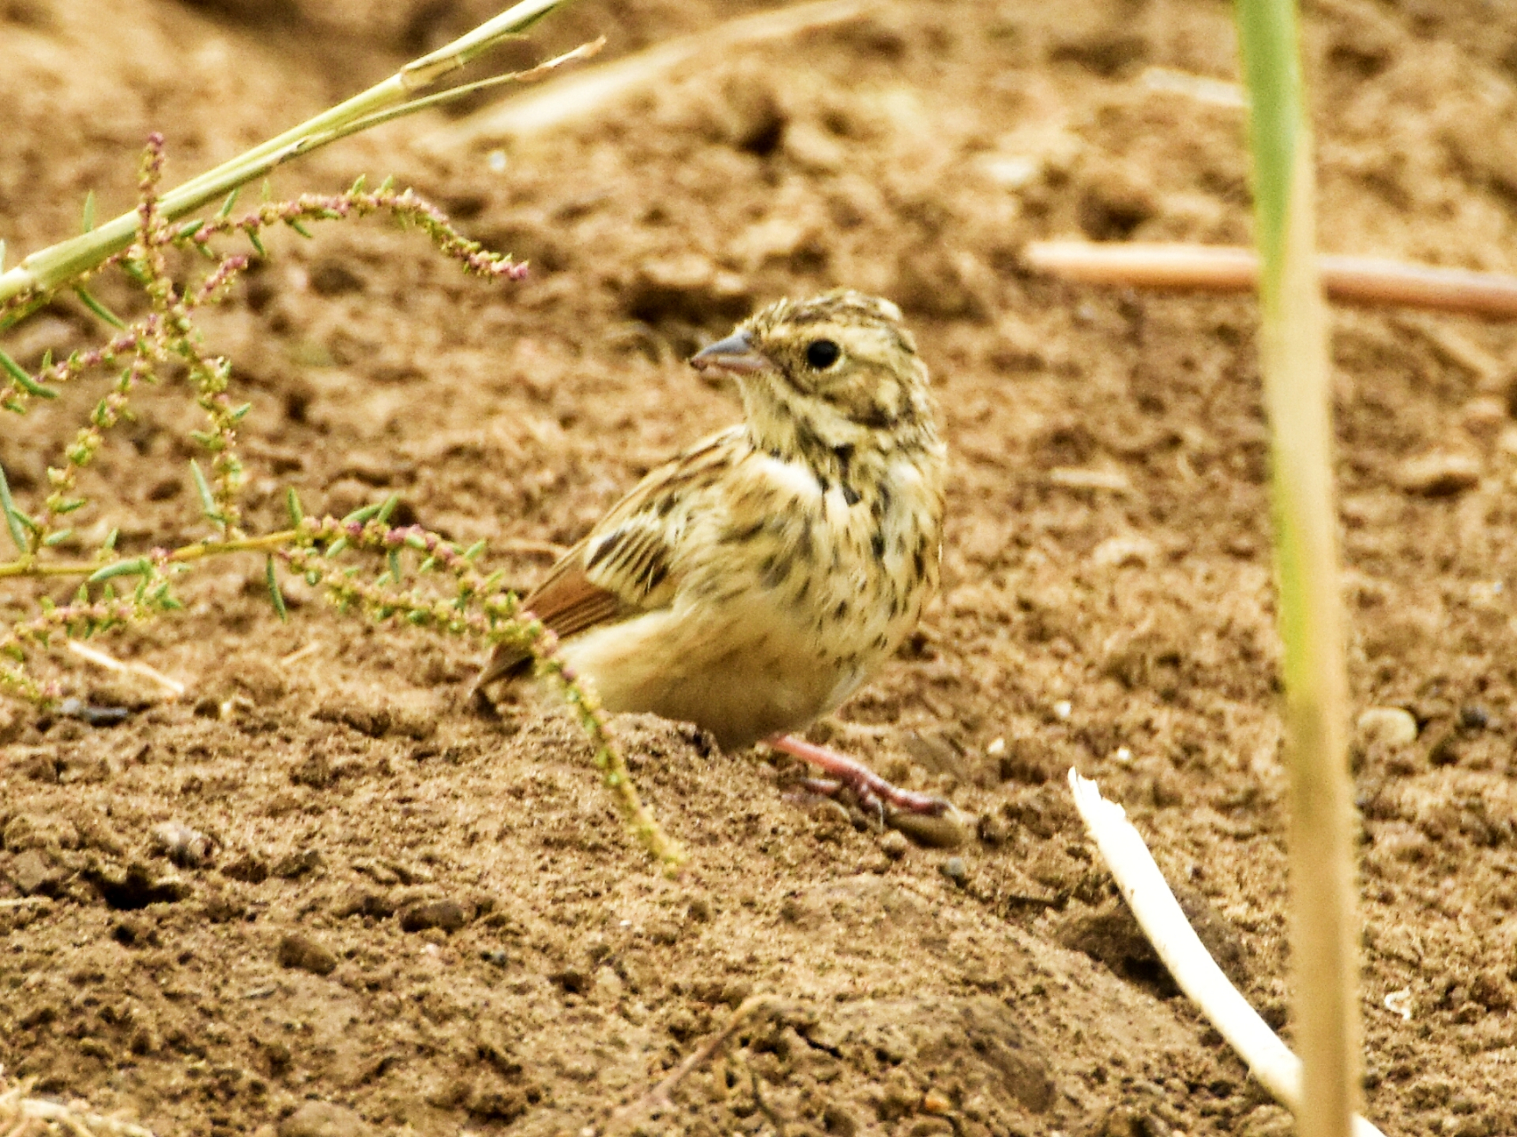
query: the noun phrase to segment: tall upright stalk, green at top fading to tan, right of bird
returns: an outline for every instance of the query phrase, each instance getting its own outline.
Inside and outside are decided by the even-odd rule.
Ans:
[[[1347,761],[1326,309],[1292,0],[1239,0],[1248,85],[1261,356],[1285,641],[1289,867],[1302,1137],[1347,1137],[1359,1087],[1358,905]]]

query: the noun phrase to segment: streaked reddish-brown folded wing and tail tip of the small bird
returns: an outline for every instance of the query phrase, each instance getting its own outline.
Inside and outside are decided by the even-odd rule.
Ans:
[[[692,500],[734,461],[743,428],[696,443],[652,470],[564,553],[522,600],[560,638],[666,608],[680,587],[680,543]],[[475,690],[528,659],[499,644]]]

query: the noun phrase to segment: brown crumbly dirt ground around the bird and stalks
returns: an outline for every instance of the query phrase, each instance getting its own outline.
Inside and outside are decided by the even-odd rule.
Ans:
[[[130,208],[150,130],[187,177],[490,6],[109,8],[0,2],[12,261],[74,232],[90,188],[102,217]],[[510,59],[595,35],[614,59],[749,11],[584,0]],[[1289,1034],[1255,309],[1019,261],[1056,235],[1247,240],[1241,111],[1173,79],[1236,76],[1229,20],[1218,0],[866,5],[531,135],[493,99],[281,171],[278,194],[393,173],[532,273],[466,279],[378,220],[278,236],[205,321],[255,405],[259,531],[287,485],[313,512],[397,493],[528,585],[548,562],[510,541],[572,543],[734,420],[692,349],[784,294],[898,300],[953,453],[944,594],[813,737],[977,825],[903,843],[807,799],[789,760],[616,720],[692,852],[669,879],[552,700],[479,717],[460,644],[341,619],[300,582],[279,623],[261,559],[229,559],[181,619],[103,644],[182,700],[59,655],[70,693],[132,717],[0,703],[6,1075],[162,1137],[599,1132],[771,994],[623,1131],[1286,1132],[1124,923],[1063,784],[1076,766],[1129,810]],[[1323,0],[1308,55],[1324,246],[1517,268],[1517,14]],[[58,303],[6,349],[35,364],[100,335]],[[1371,716],[1355,744],[1367,1111],[1388,1134],[1512,1132],[1517,335],[1340,311],[1333,349],[1355,714],[1417,726]],[[0,421],[23,505],[99,384]],[[205,532],[190,400],[138,406],[80,514],[129,552]],[[164,823],[205,840],[173,864]]]

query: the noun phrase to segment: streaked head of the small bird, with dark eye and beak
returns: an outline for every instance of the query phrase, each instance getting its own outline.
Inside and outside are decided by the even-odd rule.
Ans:
[[[786,456],[936,443],[927,367],[889,300],[780,300],[690,362],[733,374],[754,441]]]

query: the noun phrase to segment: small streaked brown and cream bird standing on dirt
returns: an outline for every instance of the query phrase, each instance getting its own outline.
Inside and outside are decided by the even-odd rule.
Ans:
[[[947,447],[901,309],[833,290],[778,300],[692,356],[743,420],[654,468],[520,603],[607,711],[768,740],[860,797],[924,813],[801,731],[895,653],[936,593]],[[499,644],[473,684],[531,669]]]

